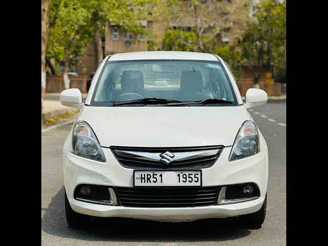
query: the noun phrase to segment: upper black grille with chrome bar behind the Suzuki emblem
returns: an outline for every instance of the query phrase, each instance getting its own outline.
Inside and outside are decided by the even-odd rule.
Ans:
[[[111,147],[116,159],[125,168],[131,169],[200,169],[213,166],[223,146],[193,148],[134,148]],[[170,157],[163,157],[169,152]],[[168,155],[166,155],[168,156]],[[169,163],[161,159],[170,160]]]

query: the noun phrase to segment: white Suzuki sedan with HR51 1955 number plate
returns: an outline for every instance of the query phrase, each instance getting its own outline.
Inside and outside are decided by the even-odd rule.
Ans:
[[[228,64],[196,52],[109,55],[63,148],[69,226],[91,216],[192,221],[265,218],[268,147],[247,109],[267,102],[249,89],[243,103]]]

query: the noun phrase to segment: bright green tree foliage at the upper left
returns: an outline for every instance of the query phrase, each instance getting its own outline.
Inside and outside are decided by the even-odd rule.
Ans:
[[[149,11],[145,7],[146,4],[156,1],[52,0],[49,13],[48,59],[74,63],[92,40],[100,39],[100,36],[104,35],[105,25],[115,24],[124,31],[147,34],[146,28],[140,25],[139,20]]]

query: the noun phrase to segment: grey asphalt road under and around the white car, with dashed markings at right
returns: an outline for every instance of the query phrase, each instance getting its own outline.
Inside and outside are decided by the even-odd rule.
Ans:
[[[238,218],[183,223],[96,219],[92,229],[69,228],[61,166],[68,124],[42,133],[42,245],[285,245],[285,103],[268,103],[250,112],[269,147],[268,207],[262,228],[244,228]]]

